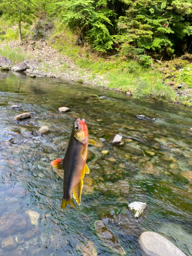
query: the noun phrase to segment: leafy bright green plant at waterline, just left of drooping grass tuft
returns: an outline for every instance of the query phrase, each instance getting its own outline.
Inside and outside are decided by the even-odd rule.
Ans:
[[[132,96],[134,99],[140,99],[144,96],[150,95],[151,88],[148,86],[148,82],[140,77],[135,79],[135,87],[132,90]]]

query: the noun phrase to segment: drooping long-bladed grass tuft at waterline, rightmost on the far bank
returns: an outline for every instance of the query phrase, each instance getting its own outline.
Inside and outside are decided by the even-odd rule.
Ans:
[[[164,84],[156,84],[153,88],[154,98],[166,101],[174,101],[176,98],[175,92],[168,86]]]

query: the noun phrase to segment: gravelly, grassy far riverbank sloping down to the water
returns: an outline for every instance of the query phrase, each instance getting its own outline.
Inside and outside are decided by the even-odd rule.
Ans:
[[[13,53],[17,55],[14,58]],[[183,81],[183,77],[190,76],[190,56],[165,62],[152,59],[151,68],[126,61],[122,56],[95,57],[94,61],[94,56],[86,58],[81,51],[81,55],[77,53],[77,58],[72,58],[63,54],[54,36],[51,40],[26,40],[19,48],[16,41],[11,41],[1,45],[0,54],[10,58],[13,65],[25,59],[36,60],[38,68],[29,70],[31,74],[39,72],[42,76],[91,84],[126,93],[135,99],[153,97],[192,105],[192,89]]]

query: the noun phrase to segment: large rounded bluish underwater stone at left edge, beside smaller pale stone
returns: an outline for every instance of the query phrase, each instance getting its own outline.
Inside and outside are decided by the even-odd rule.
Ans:
[[[27,228],[27,222],[22,215],[10,214],[1,217],[0,219],[0,234],[7,236],[9,234],[16,234],[23,232]]]

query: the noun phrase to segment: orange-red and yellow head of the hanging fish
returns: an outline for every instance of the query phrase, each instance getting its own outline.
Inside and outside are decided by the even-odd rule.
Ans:
[[[73,126],[73,136],[81,143],[86,142],[89,138],[88,126],[82,118],[77,118]]]

